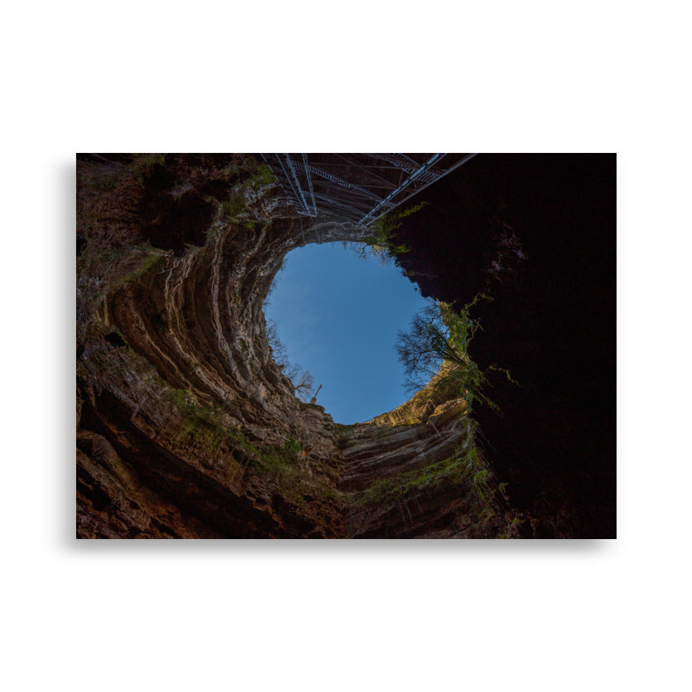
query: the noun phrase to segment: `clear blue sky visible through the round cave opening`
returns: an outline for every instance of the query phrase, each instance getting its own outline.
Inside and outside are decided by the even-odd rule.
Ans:
[[[408,399],[394,344],[426,304],[393,264],[366,262],[340,243],[311,244],[286,257],[268,298],[289,361],[309,370],[337,423],[351,424]]]

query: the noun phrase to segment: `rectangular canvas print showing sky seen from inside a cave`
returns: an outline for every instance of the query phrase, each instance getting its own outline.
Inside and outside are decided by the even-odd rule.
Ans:
[[[616,537],[614,154],[78,154],[78,538]]]

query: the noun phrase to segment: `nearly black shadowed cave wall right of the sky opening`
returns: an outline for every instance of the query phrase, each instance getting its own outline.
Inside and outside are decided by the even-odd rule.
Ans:
[[[469,352],[519,386],[491,374],[502,415],[474,418],[525,536],[616,534],[615,192],[613,154],[483,154],[422,192],[398,230],[421,293],[493,299],[473,310]],[[509,266],[511,235],[524,257]]]

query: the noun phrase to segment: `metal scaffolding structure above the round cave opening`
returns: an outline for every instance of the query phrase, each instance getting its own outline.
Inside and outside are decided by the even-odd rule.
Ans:
[[[262,154],[302,215],[373,221],[475,154]]]

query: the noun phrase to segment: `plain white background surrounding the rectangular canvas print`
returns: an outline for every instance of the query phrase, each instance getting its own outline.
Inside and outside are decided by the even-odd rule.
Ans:
[[[3,65],[4,689],[687,689],[682,3],[13,3]],[[85,151],[618,154],[618,538],[82,541]]]

